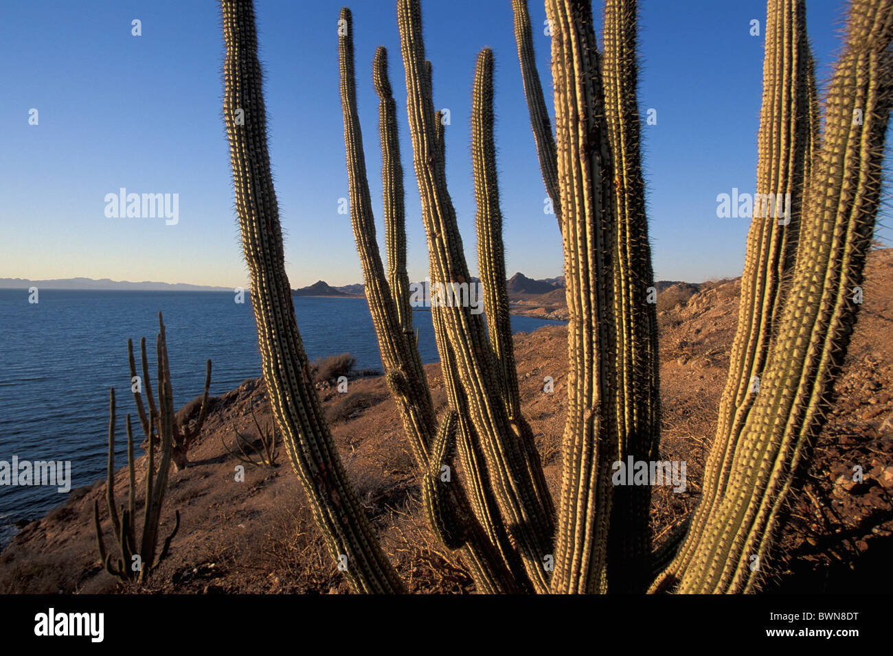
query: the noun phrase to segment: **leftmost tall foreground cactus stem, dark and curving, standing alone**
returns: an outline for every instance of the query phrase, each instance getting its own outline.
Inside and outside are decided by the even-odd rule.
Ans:
[[[355,590],[403,592],[405,586],[382,552],[346,477],[297,329],[267,150],[254,6],[250,0],[222,0],[221,5],[226,41],[223,113],[242,245],[251,271],[263,378],[273,414],[313,517]]]

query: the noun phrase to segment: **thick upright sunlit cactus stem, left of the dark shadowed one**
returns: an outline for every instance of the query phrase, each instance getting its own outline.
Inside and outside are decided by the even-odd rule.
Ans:
[[[588,2],[547,0],[561,192],[568,325],[568,409],[555,574],[556,593],[604,593],[617,460],[616,220],[605,101]]]

